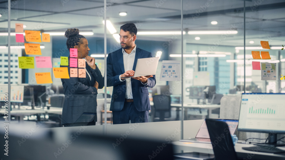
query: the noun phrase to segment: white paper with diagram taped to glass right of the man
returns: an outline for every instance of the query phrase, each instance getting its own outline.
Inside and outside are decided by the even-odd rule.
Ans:
[[[180,61],[162,61],[159,80],[180,81]]]

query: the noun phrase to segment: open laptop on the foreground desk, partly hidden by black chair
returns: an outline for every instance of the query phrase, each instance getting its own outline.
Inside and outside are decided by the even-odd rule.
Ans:
[[[226,122],[229,126],[229,131],[231,135],[235,133],[237,130],[237,125],[239,123],[239,120],[231,120],[231,119],[216,119],[216,120],[221,120],[223,122]],[[183,142],[199,142],[199,143],[211,143],[208,128],[206,125],[205,120],[203,121],[197,135],[195,138],[189,138],[185,140],[180,140]]]

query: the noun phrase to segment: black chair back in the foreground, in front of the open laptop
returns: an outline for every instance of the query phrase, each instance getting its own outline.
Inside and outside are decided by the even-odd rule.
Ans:
[[[237,160],[233,140],[226,122],[205,119],[213,146],[215,160]]]

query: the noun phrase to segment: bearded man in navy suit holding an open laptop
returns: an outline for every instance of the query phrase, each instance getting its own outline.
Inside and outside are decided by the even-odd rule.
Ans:
[[[110,111],[113,124],[148,122],[150,103],[147,87],[156,84],[155,75],[134,76],[139,58],[152,57],[151,53],[136,46],[137,27],[133,23],[120,28],[121,49],[107,57],[107,87],[113,86]]]

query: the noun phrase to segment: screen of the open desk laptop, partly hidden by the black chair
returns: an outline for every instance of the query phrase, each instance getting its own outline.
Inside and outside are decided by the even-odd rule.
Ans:
[[[216,120],[221,120],[223,122],[226,122],[229,126],[229,131],[230,131],[231,135],[233,135],[235,133],[235,130],[237,129],[237,125],[239,123],[239,120],[231,120],[231,119],[216,119]],[[205,120],[203,121],[203,123],[202,123],[202,125],[201,125],[201,127],[200,127],[200,129],[196,135],[196,138],[210,138]]]

